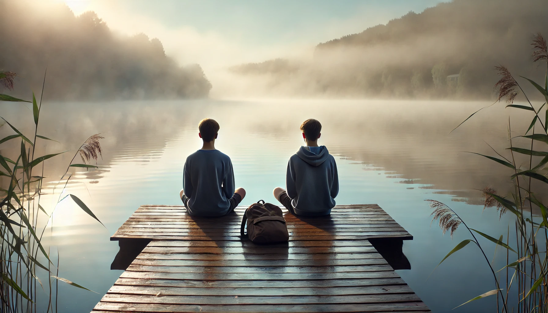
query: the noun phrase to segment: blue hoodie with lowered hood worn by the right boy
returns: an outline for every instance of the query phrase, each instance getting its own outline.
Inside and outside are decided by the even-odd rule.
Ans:
[[[293,199],[295,214],[328,215],[339,193],[339,175],[335,158],[326,146],[319,153],[301,146],[287,164],[287,195]]]

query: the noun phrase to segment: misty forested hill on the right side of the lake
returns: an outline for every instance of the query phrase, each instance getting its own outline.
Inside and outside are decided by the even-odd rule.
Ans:
[[[495,65],[544,78],[530,43],[536,33],[548,37],[546,16],[546,0],[454,0],[318,44],[309,60],[232,70],[292,94],[489,98]]]

